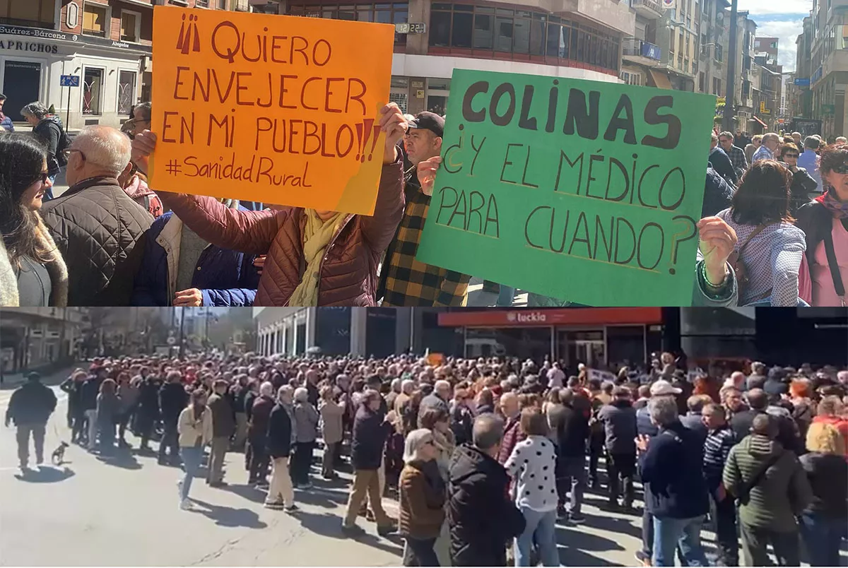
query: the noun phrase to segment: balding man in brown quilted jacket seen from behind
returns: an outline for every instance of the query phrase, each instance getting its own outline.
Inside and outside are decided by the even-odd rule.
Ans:
[[[87,126],[70,144],[70,188],[42,207],[68,265],[68,305],[130,304],[153,215],[120,187],[129,162],[129,138],[109,126]]]

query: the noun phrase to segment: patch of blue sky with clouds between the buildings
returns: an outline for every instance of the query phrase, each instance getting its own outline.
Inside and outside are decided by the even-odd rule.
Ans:
[[[757,36],[780,38],[778,63],[784,71],[795,70],[795,38],[811,8],[812,0],[739,0],[739,10],[748,10],[756,22]]]

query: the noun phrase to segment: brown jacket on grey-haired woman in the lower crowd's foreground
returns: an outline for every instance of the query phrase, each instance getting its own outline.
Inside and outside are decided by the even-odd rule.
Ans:
[[[436,538],[444,524],[447,488],[434,460],[404,465],[398,482],[398,532],[402,537]]]

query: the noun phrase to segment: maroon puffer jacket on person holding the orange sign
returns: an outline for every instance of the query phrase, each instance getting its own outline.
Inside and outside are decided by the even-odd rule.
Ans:
[[[215,198],[185,193],[159,197],[192,231],[220,248],[267,254],[255,306],[285,306],[305,269],[304,209],[239,211]],[[373,306],[377,267],[404,214],[403,163],[384,165],[374,215],[348,215],[327,245],[318,305]]]

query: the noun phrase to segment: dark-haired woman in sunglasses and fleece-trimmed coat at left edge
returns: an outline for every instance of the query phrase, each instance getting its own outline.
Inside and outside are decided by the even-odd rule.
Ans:
[[[51,187],[39,142],[25,134],[0,136],[0,233],[20,306],[68,303],[68,269],[38,214]]]

